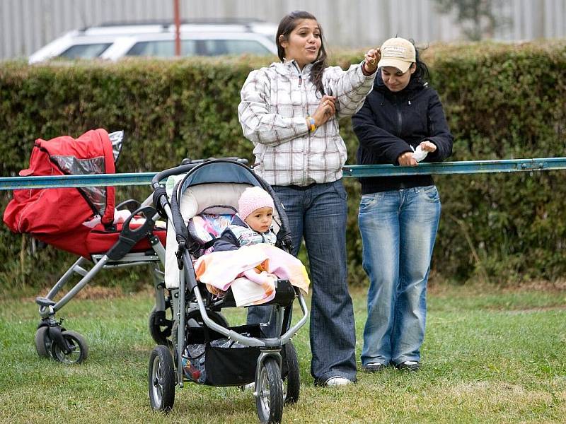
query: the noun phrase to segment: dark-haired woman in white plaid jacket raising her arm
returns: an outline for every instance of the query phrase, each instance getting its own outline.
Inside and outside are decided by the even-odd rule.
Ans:
[[[314,16],[295,11],[279,23],[280,62],[252,71],[241,90],[238,116],[253,142],[255,172],[285,207],[293,254],[304,238],[313,281],[311,375],[315,384],[356,380],[355,329],[347,287],[346,147],[338,119],[351,116],[371,91],[379,50],[348,71],[328,66]],[[248,322],[267,322],[270,307],[253,307]]]

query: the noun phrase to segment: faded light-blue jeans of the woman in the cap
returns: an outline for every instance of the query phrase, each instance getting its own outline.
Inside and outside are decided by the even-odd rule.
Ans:
[[[362,196],[358,222],[369,276],[362,365],[420,361],[440,209],[434,185]]]

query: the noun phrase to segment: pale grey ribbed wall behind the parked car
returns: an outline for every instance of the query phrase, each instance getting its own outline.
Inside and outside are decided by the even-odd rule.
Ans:
[[[499,0],[497,40],[566,37],[566,0]],[[461,40],[433,0],[180,0],[181,18],[260,18],[310,11],[332,47],[379,45],[393,35],[418,44]],[[0,59],[25,57],[68,30],[110,21],[173,19],[173,0],[0,0]]]

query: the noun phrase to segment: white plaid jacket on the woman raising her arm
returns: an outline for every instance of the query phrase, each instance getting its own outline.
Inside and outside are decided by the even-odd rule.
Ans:
[[[376,72],[364,76],[361,64],[348,71],[326,68],[323,86],[327,95],[337,97],[336,114],[309,133],[306,117],[322,98],[311,82],[311,69],[308,64],[301,72],[295,61],[274,63],[250,72],[242,87],[238,117],[243,135],[255,146],[255,172],[269,184],[306,186],[342,177],[347,153],[338,119],[362,107]]]

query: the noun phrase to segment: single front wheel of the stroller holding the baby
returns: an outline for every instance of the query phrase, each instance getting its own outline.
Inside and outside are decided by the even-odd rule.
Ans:
[[[281,370],[275,358],[265,358],[260,369],[255,406],[262,424],[280,423],[283,416],[283,382]]]

